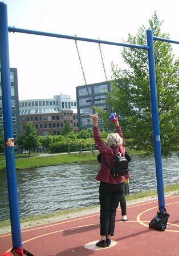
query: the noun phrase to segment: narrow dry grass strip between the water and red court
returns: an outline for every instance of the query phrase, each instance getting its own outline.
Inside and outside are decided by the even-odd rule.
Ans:
[[[168,193],[168,192],[179,193],[179,183],[165,186],[164,189],[165,189],[165,193]],[[134,199],[140,199],[140,198],[145,198],[145,197],[156,197],[156,196],[157,196],[157,190],[144,191],[144,192],[139,192],[139,193],[135,193],[132,195],[128,195],[127,201],[129,202]],[[44,215],[39,215],[39,216],[31,216],[29,218],[21,218],[21,223],[30,222],[30,221],[38,221],[38,219],[54,218],[54,217],[58,217],[63,214],[76,213],[76,211],[82,211],[82,210],[86,210],[86,209],[88,209],[88,208],[80,207],[80,208],[75,208],[75,209],[61,210],[61,211],[58,211],[58,212],[52,213],[52,214],[44,214]],[[0,228],[6,227],[6,226],[10,226],[10,219],[7,219],[6,221],[0,221]]]

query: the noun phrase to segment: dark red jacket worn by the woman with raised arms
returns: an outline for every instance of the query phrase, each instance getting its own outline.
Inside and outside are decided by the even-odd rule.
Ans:
[[[119,133],[120,137],[123,138],[123,133],[120,126],[116,126],[116,133]],[[116,178],[113,177],[109,166],[111,166],[112,168],[115,165],[116,155],[113,153],[111,147],[105,146],[100,136],[99,127],[93,127],[93,137],[95,139],[97,149],[101,153],[101,159],[102,159],[100,163],[99,172],[96,176],[96,180],[112,183],[112,184],[119,184],[124,182],[125,179],[130,178],[129,173],[126,174],[125,176],[120,176]],[[124,138],[123,138],[123,145],[121,145],[120,147],[113,147],[113,150],[115,150],[116,153],[119,153],[120,151],[121,154],[123,155],[125,154]]]

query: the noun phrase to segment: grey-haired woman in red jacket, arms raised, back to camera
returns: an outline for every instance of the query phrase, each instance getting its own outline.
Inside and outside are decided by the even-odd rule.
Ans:
[[[93,120],[93,137],[97,149],[101,153],[100,170],[96,180],[100,181],[99,200],[100,200],[100,241],[96,246],[106,247],[111,245],[111,236],[114,235],[116,210],[120,201],[124,201],[124,182],[130,177],[129,173],[124,176],[114,177],[111,168],[116,162],[116,153],[125,155],[125,145],[123,133],[119,122],[116,121],[116,133],[111,133],[107,137],[108,146],[105,146],[100,137],[100,130],[97,124],[97,114],[91,115]],[[125,202],[124,202],[125,203]],[[124,206],[125,208],[125,206]],[[126,217],[126,213],[124,217]]]

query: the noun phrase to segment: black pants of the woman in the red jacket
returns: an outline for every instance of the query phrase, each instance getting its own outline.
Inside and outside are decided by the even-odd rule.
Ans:
[[[119,202],[123,205],[123,209],[125,208],[122,214],[126,215],[124,199],[124,182],[120,184],[100,182],[100,235],[114,235],[116,210]]]

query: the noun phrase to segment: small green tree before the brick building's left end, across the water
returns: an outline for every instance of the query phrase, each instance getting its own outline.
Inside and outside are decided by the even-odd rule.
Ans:
[[[27,123],[25,133],[18,137],[18,144],[22,145],[23,148],[29,152],[29,155],[32,149],[38,147],[38,135],[36,134],[33,123]]]

